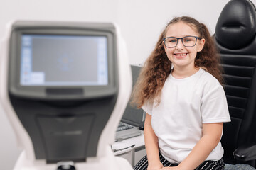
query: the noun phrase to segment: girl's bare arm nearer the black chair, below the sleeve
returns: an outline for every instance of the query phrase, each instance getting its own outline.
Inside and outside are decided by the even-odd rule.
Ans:
[[[223,130],[223,123],[204,123],[203,124],[203,137],[198,141],[196,146],[192,149],[188,157],[174,168],[164,169],[196,169],[202,162],[206,160],[210,152],[220,142],[220,137]]]

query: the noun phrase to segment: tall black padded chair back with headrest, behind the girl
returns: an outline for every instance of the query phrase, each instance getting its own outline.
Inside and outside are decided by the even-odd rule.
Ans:
[[[220,13],[215,42],[224,69],[231,123],[224,124],[224,162],[237,164],[233,152],[256,141],[256,10],[249,0],[231,0]],[[250,162],[250,164],[254,164]]]

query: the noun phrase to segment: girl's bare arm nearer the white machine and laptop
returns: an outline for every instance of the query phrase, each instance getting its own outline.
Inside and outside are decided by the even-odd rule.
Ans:
[[[146,155],[149,162],[148,170],[159,170],[164,166],[159,159],[158,137],[154,133],[151,126],[151,115],[146,114],[144,123],[144,140],[146,147]]]

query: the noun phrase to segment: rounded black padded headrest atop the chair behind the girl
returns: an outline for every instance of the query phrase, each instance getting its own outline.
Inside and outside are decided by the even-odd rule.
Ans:
[[[217,42],[231,50],[252,42],[256,34],[256,10],[249,0],[231,0],[225,5],[215,28]]]

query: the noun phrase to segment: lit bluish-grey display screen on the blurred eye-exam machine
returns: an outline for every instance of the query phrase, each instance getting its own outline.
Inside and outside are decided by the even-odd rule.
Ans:
[[[21,86],[105,86],[107,37],[21,36]]]

